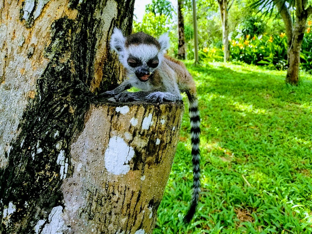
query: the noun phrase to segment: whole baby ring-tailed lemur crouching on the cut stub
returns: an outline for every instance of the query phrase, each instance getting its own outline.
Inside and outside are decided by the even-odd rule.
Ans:
[[[184,216],[189,223],[196,211],[200,193],[200,116],[196,97],[196,86],[193,77],[185,65],[167,55],[169,48],[168,34],[158,40],[142,32],[124,37],[117,28],[110,40],[111,49],[119,55],[127,77],[120,86],[100,96],[114,97],[116,101],[138,101],[163,103],[164,101],[181,101],[180,92],[188,96],[191,119],[191,142],[193,162],[193,195],[190,208]],[[123,92],[131,87],[139,88],[140,92]]]

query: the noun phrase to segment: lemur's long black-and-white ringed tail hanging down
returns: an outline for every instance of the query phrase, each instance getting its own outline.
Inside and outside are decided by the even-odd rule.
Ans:
[[[192,96],[187,92],[190,107],[190,119],[191,119],[191,143],[192,143],[192,162],[193,162],[193,195],[192,201],[187,214],[184,216],[184,222],[190,223],[195,212],[199,201],[199,193],[201,191],[201,181],[200,181],[200,151],[199,151],[199,135],[201,133],[200,129],[200,116],[198,110],[198,100],[196,97]]]

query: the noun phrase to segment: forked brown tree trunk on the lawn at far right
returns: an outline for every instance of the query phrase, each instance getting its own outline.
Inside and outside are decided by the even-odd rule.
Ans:
[[[300,68],[300,49],[304,37],[304,31],[306,28],[306,21],[310,14],[312,14],[312,7],[307,9],[307,1],[296,0],[295,1],[295,26],[292,24],[292,17],[288,11],[285,3],[274,0],[277,9],[280,12],[282,20],[285,24],[286,36],[287,36],[287,57],[288,57],[288,69],[286,74],[286,83],[297,85],[299,80],[299,68]]]

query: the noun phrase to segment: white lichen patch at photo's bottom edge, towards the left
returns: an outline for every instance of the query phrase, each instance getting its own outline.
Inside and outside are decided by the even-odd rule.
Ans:
[[[66,231],[64,219],[63,219],[63,207],[61,205],[53,207],[49,214],[49,221],[43,227],[41,234],[63,234]],[[38,223],[37,223],[38,224]]]

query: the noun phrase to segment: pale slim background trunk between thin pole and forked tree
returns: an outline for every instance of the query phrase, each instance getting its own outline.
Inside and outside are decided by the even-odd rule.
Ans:
[[[222,24],[222,43],[223,43],[224,62],[228,62],[230,60],[228,2],[227,0],[218,0],[218,4]]]

